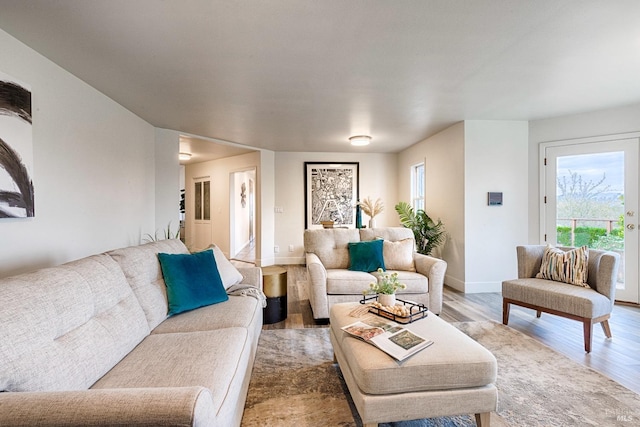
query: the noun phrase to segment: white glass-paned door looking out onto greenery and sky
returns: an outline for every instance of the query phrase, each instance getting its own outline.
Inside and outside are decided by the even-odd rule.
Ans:
[[[544,147],[543,239],[620,254],[616,300],[640,303],[638,138]]]

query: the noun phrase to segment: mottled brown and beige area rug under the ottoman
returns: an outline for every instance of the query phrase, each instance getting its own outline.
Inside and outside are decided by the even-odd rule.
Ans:
[[[498,360],[492,425],[638,425],[640,395],[536,340],[495,322],[454,323]],[[242,426],[360,426],[328,328],[262,331]],[[472,416],[389,427],[475,426]]]

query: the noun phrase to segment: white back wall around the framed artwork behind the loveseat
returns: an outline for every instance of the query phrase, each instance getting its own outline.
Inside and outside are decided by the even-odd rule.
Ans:
[[[394,206],[397,197],[397,155],[357,153],[275,153],[275,206],[282,213],[275,214],[274,254],[277,264],[304,264],[304,162],[359,162],[360,199],[381,198],[384,211],[376,216],[376,226],[399,226]],[[362,222],[369,218],[363,214]],[[293,251],[289,252],[289,245]],[[265,247],[265,250],[268,248]]]

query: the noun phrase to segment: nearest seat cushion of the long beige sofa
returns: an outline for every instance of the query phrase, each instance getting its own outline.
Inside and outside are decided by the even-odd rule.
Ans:
[[[235,408],[241,401],[251,357],[245,328],[152,334],[91,388],[202,386],[220,414],[223,405]]]

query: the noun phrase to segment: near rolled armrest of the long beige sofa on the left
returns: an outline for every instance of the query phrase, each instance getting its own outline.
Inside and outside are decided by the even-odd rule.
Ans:
[[[205,426],[215,416],[204,387],[0,393],[0,425]]]

